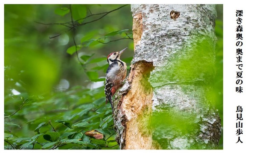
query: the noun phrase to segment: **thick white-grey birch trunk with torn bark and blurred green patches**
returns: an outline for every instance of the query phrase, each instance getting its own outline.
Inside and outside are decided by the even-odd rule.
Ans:
[[[134,58],[114,99],[120,149],[217,149],[215,5],[131,5]]]

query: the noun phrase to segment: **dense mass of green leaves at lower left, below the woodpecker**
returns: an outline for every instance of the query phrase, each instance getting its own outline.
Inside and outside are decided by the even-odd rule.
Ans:
[[[76,86],[47,98],[29,97],[17,114],[5,119],[5,149],[102,149],[117,145],[112,110],[105,105],[103,90]],[[21,135],[20,129],[26,130],[26,135]],[[85,134],[94,129],[103,139]]]

